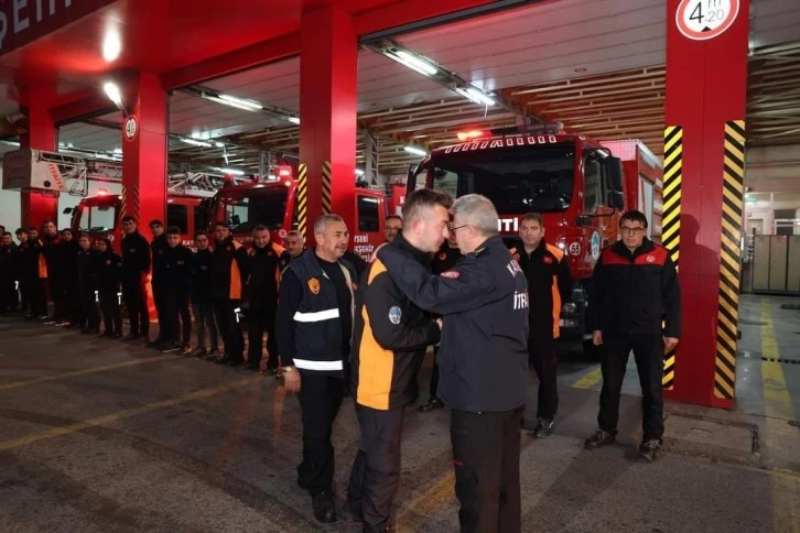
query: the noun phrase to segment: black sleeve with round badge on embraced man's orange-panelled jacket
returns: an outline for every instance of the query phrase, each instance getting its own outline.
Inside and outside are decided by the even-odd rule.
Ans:
[[[388,274],[378,274],[364,291],[364,306],[369,316],[375,340],[387,350],[411,351],[439,342],[440,329],[435,322],[409,324],[409,301],[398,291]],[[389,309],[400,308],[400,323],[392,324]]]

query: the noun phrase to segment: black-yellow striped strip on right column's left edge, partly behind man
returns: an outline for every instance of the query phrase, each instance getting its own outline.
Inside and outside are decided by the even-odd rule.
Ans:
[[[669,126],[663,135],[663,213],[661,217],[661,243],[669,250],[675,263],[681,251],[681,178],[683,168],[683,128]],[[672,390],[675,378],[675,350],[664,355],[661,385]]]

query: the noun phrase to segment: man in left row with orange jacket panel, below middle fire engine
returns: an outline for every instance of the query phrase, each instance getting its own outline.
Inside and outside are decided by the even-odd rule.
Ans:
[[[216,244],[212,255],[212,298],[225,353],[215,362],[238,367],[245,362],[245,337],[239,325],[241,289],[247,275],[247,249],[230,235],[227,222],[214,226]]]

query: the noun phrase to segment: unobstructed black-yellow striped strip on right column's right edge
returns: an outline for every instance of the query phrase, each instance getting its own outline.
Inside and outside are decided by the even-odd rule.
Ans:
[[[736,385],[736,341],[742,215],[745,192],[745,121],[725,123],[725,170],[722,182],[722,237],[720,247],[720,307],[716,322],[714,395],[733,400]]]

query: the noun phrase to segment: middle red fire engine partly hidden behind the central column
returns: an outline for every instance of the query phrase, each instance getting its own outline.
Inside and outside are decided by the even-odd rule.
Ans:
[[[287,233],[298,229],[298,181],[292,165],[277,167],[274,180],[252,180],[242,184],[223,186],[210,202],[210,222],[225,220],[238,241],[252,241],[252,230],[262,225],[270,229],[272,239],[283,243]],[[357,228],[352,231],[353,251],[368,260],[383,241],[383,222],[388,214],[399,214],[406,187],[392,185],[391,194],[359,184],[354,197]],[[309,220],[309,227],[314,220]]]

